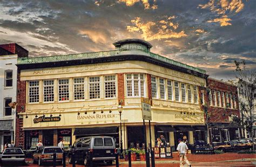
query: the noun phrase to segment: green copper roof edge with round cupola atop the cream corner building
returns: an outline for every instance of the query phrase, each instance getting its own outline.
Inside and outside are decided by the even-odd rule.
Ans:
[[[86,60],[86,59],[97,59],[97,58],[111,58],[117,57],[118,55],[143,55],[156,59],[158,61],[165,62],[169,65],[175,65],[183,68],[190,69],[202,74],[206,74],[204,69],[188,66],[178,61],[163,57],[159,54],[150,52],[152,45],[147,41],[140,39],[126,39],[120,40],[113,44],[116,46],[116,50],[102,51],[102,52],[90,52],[90,53],[79,53],[79,54],[67,54],[67,55],[53,55],[48,57],[35,57],[35,58],[18,58],[17,65],[25,64],[38,64],[45,62],[58,62],[58,61],[69,61],[69,60]]]

